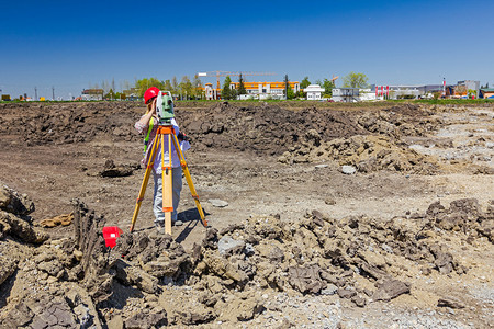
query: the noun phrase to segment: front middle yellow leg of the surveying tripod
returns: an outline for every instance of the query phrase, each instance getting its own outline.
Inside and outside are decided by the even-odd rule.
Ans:
[[[165,232],[171,235],[171,213],[173,212],[173,195],[171,181],[171,138],[168,136],[168,161],[165,167],[165,138],[161,139],[161,181],[162,181],[162,212],[165,213]],[[173,135],[175,136],[175,135]]]

